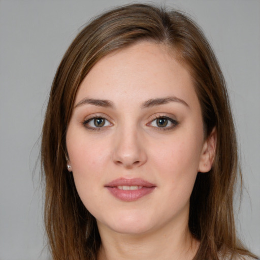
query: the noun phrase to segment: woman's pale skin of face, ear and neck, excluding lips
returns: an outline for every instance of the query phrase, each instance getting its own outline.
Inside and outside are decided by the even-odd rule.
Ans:
[[[193,258],[189,198],[197,173],[211,169],[216,133],[205,138],[191,76],[166,46],[141,42],[96,63],[66,141],[77,191],[98,223],[99,259]],[[106,187],[118,178],[154,188],[123,201]]]

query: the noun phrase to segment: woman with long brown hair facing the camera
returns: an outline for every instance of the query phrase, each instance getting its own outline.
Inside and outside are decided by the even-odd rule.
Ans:
[[[180,12],[129,5],[83,28],[53,81],[42,165],[53,259],[255,257],[236,239],[225,82]]]

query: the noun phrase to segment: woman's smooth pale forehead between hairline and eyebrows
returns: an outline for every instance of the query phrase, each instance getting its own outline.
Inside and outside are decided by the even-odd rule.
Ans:
[[[97,62],[80,84],[75,104],[84,98],[125,104],[172,95],[191,107],[198,102],[189,71],[165,45],[140,42]]]

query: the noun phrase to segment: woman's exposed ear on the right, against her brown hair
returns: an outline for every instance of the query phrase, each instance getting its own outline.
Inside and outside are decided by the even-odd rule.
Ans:
[[[198,172],[206,173],[211,170],[216,152],[216,144],[217,131],[216,127],[214,127],[210,136],[204,142]]]

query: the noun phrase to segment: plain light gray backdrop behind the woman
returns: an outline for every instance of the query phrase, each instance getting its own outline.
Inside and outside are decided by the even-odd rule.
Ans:
[[[126,3],[131,2],[0,1],[0,260],[47,258],[35,164],[50,85],[78,28],[108,7]],[[236,221],[242,240],[260,255],[260,1],[155,3],[191,14],[219,59],[243,164],[245,189]]]

